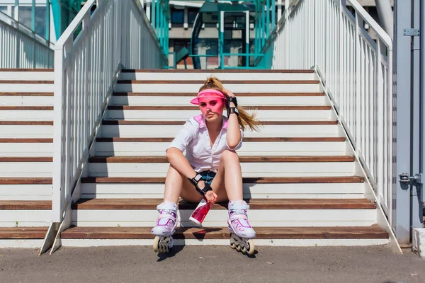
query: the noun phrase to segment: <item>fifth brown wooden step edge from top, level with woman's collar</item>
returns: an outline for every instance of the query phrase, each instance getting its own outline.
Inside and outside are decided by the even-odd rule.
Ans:
[[[338,125],[338,121],[260,121],[261,125]],[[186,121],[102,120],[102,125],[184,125]],[[0,124],[1,125],[1,124]]]

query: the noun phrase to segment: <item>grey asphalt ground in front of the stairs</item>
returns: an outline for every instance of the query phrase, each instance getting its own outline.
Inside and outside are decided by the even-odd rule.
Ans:
[[[0,249],[0,282],[425,282],[425,260],[410,250],[373,247],[229,246]]]

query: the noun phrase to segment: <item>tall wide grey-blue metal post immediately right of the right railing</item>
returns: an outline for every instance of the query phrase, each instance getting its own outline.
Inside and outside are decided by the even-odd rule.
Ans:
[[[392,190],[392,229],[401,244],[410,242],[410,193],[409,184],[399,182],[399,174],[410,173],[410,43],[403,29],[411,25],[411,1],[395,0],[395,176]]]

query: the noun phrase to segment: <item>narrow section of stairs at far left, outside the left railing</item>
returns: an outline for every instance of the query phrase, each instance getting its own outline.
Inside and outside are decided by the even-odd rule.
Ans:
[[[0,248],[40,248],[52,220],[53,70],[0,69]]]

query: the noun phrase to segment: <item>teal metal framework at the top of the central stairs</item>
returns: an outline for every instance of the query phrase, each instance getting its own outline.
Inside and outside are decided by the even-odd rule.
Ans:
[[[259,59],[265,56],[264,45],[276,27],[275,2],[273,0],[246,2],[232,0],[231,2],[205,1],[201,6],[193,23],[189,51],[194,69],[208,68],[208,62],[213,61],[211,57],[217,58],[218,69],[263,69],[263,66],[259,66],[256,62],[266,62]],[[217,25],[217,52],[210,51],[206,54],[205,50],[208,50],[209,43],[205,42],[201,36],[202,27],[205,24]],[[254,36],[251,35],[251,25],[254,25],[252,32]],[[228,52],[231,44],[229,42],[235,43],[234,34],[236,33],[240,42],[236,42],[239,46],[233,49],[239,49],[242,52]],[[251,45],[254,45],[254,48],[251,48]],[[237,59],[231,60],[232,57]],[[229,63],[230,61],[232,63]]]

